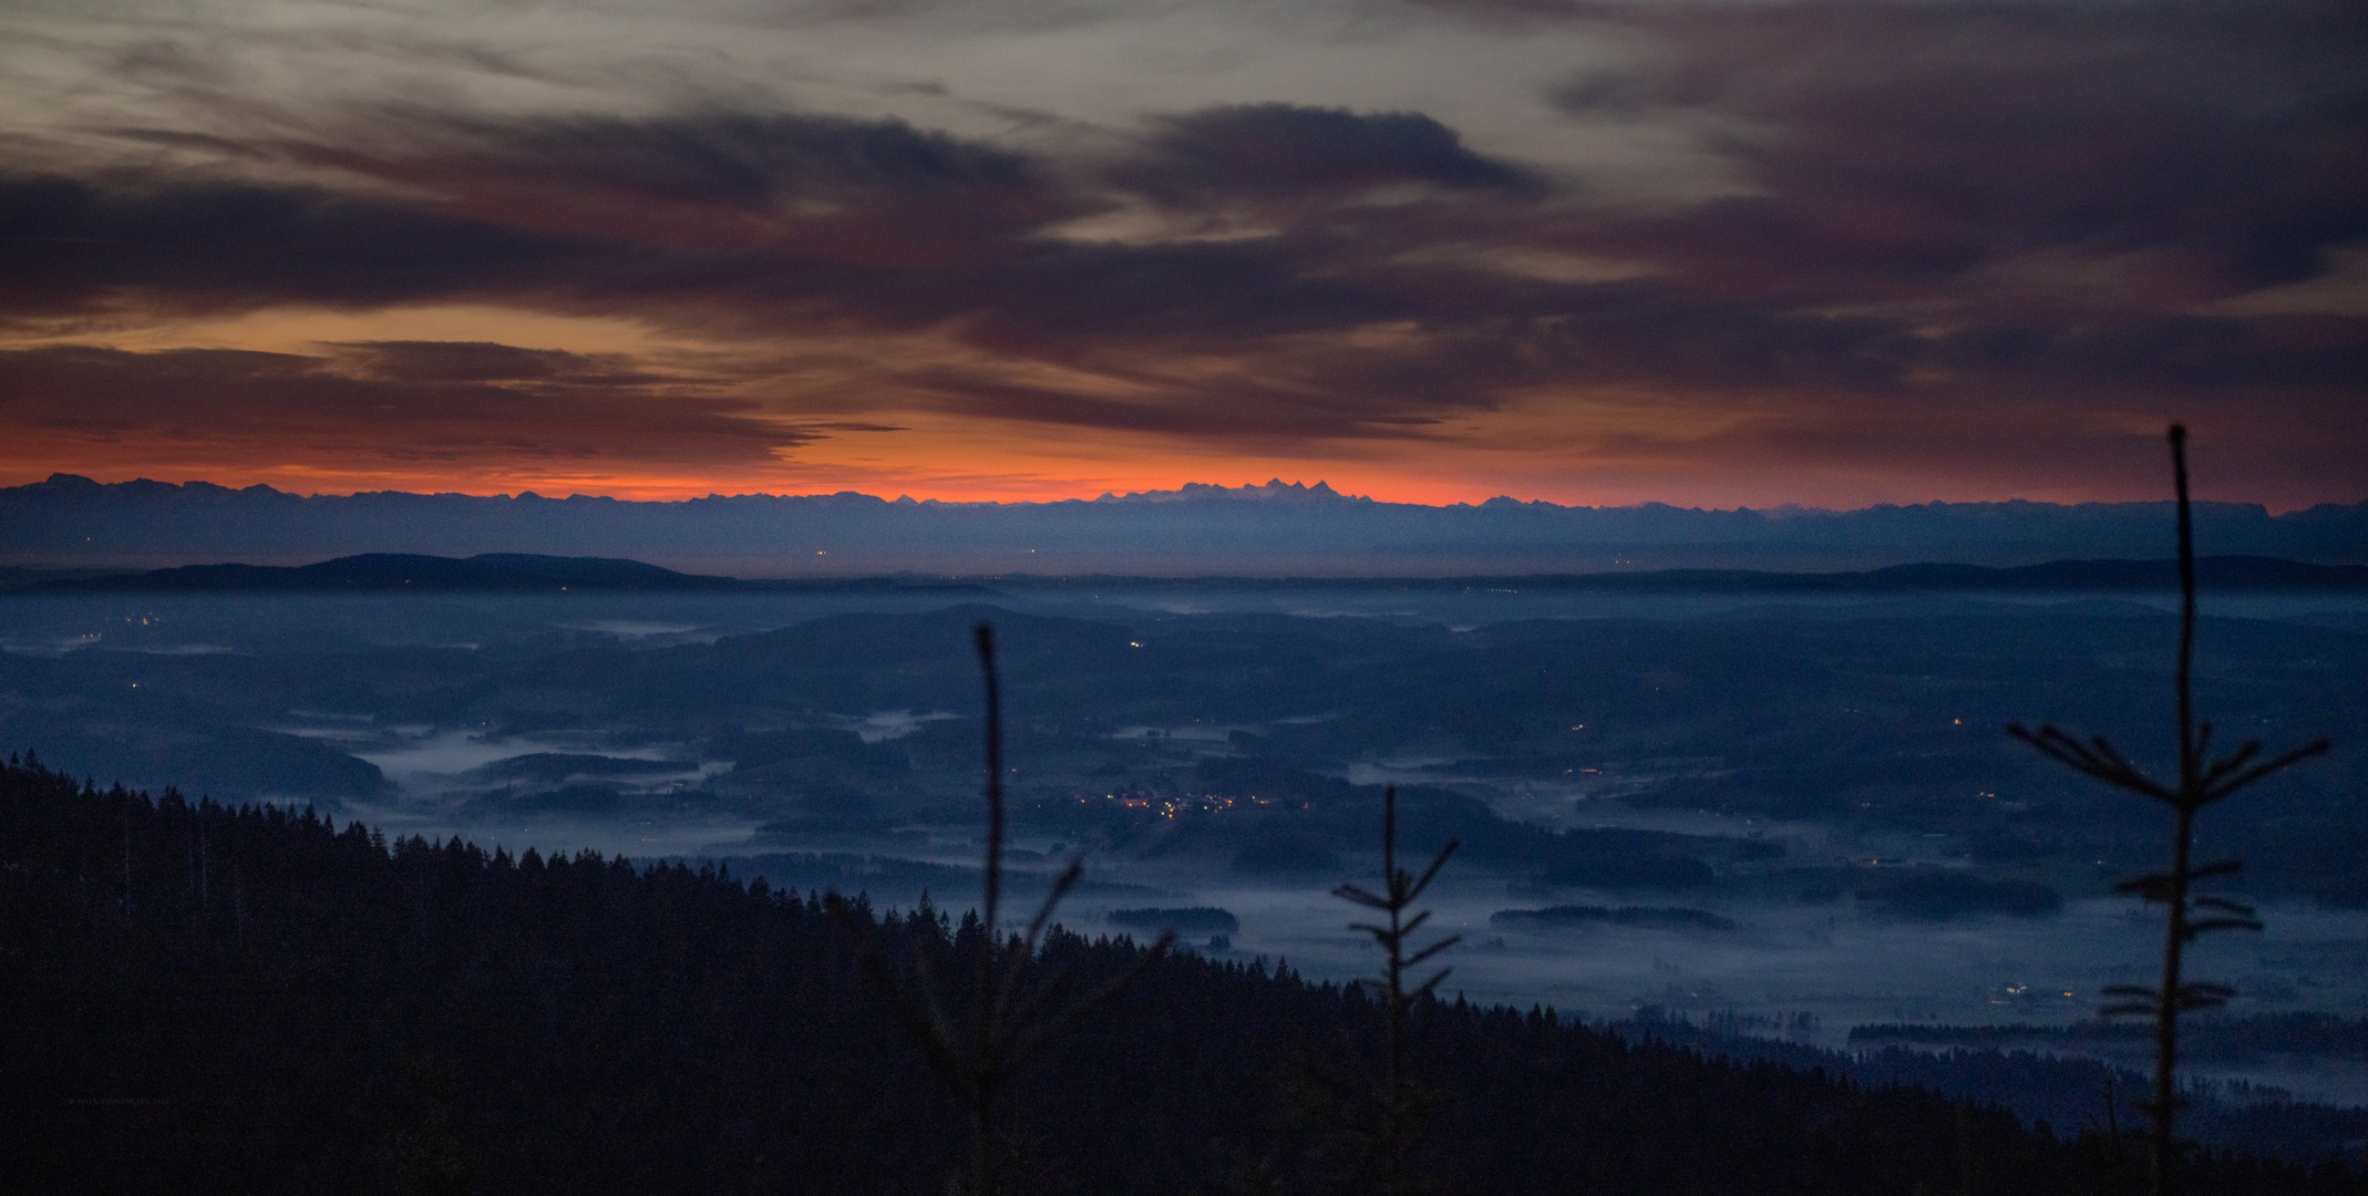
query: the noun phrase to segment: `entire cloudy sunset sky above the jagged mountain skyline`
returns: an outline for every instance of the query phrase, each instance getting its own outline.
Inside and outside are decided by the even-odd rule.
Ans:
[[[0,486],[2368,500],[2359,0],[7,0]]]

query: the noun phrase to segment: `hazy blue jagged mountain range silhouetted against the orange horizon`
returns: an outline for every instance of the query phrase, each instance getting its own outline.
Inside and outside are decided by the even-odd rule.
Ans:
[[[270,486],[97,483],[57,474],[0,488],[0,566],[21,568],[128,571],[225,559],[296,566],[374,552],[630,557],[682,573],[736,578],[900,571],[1447,578],[2162,559],[2171,554],[2171,504],[1930,502],[1859,512],[1714,512],[1494,497],[1423,507],[1281,481],[1184,486],[1089,502],[890,502],[855,493],[625,502],[533,493],[305,497]],[[2195,535],[2205,554],[2359,566],[2368,564],[2368,502],[2287,514],[2205,502],[2195,507]]]

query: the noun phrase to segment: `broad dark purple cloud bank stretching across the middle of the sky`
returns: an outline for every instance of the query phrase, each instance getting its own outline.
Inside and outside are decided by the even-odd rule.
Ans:
[[[2311,478],[2273,502],[2359,497],[2332,478],[2368,455],[2368,317],[2228,306],[2368,244],[2359,5],[1482,12],[1561,14],[1655,52],[1572,76],[1558,118],[1684,123],[1726,189],[1622,201],[1428,114],[1281,102],[1063,149],[720,107],[343,111],[343,135],[213,137],[215,171],[0,178],[0,320],[490,301],[926,332],[1141,393],[931,367],[893,379],[916,403],[1217,441],[1440,436],[1561,386],[1729,410],[1769,429],[1759,450],[2176,414],[2261,441],[2252,481]],[[1063,232],[1108,213],[1170,230]],[[1556,256],[1617,270],[1504,268]],[[1411,332],[1350,341],[1373,327]],[[1186,358],[1231,367],[1170,369]]]

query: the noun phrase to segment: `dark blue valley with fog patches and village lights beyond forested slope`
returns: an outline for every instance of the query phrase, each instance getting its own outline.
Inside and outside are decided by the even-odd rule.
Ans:
[[[1058,585],[964,594],[5,594],[0,737],[54,767],[310,803],[391,838],[727,860],[976,898],[997,625],[1011,867],[1063,921],[1217,907],[1189,950],[1376,966],[1328,890],[1463,841],[1428,905],[1447,992],[1840,1047],[1852,1025],[2063,1025],[2148,983],[2160,810],[2008,720],[2167,758],[2162,594],[1589,594]],[[2337,753],[2207,812],[2259,935],[2195,973],[2228,1016],[2368,1014],[2368,602],[2207,597],[2200,708]],[[1025,902],[1023,902],[1025,905]],[[1544,914],[1539,914],[1544,912]],[[1511,914],[1511,917],[1499,917]],[[1804,1016],[1807,1014],[1807,1016]],[[2359,1059],[2202,1063],[2368,1104]]]

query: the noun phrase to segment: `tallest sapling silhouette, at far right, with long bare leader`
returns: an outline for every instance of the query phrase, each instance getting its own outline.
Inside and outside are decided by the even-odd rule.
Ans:
[[[2181,976],[2183,952],[2188,943],[2205,931],[2261,928],[2261,921],[2254,917],[2250,905],[2233,902],[2228,898],[2200,898],[2193,893],[2195,881],[2228,876],[2240,869],[2238,860],[2214,860],[2209,864],[2193,862],[2195,815],[2202,812],[2205,805],[2228,798],[2238,789],[2245,789],[2271,772],[2309,760],[2311,755],[2323,755],[2330,748],[2325,739],[2316,739],[2287,751],[2285,755],[2261,760],[2261,741],[2247,739],[2228,755],[2216,760],[2212,758],[2212,722],[2195,720],[2193,701],[2195,526],[2188,512],[2188,429],[2171,424],[2169,441],[2171,478],[2179,490],[2179,670],[2174,682],[2179,703],[2179,779],[2164,784],[2148,777],[2100,734],[2089,737],[2084,744],[2053,725],[2044,725],[2036,732],[2020,722],[2010,722],[2006,727],[2006,734],[2022,739],[2074,772],[2084,772],[2115,789],[2129,789],[2131,793],[2171,808],[2171,867],[2167,872],[2148,872],[2145,876],[2134,876],[2112,886],[2117,893],[2136,893],[2167,907],[2169,926],[2162,943],[2162,983],[2155,988],[2110,985],[2105,988],[2105,995],[2119,999],[2100,1009],[2103,1016],[2155,1016],[2155,1094],[2141,1104],[2153,1123],[2148,1170],[2155,1196],[2169,1196],[2176,1187],[2174,1156],[2179,1137],[2174,1127],[2179,1106],[2186,1104],[2179,1097],[2176,1075],[2179,1014],[2188,1009],[2212,1009],[2226,1004],[2228,997],[2235,995],[2228,985],[2186,980]]]

